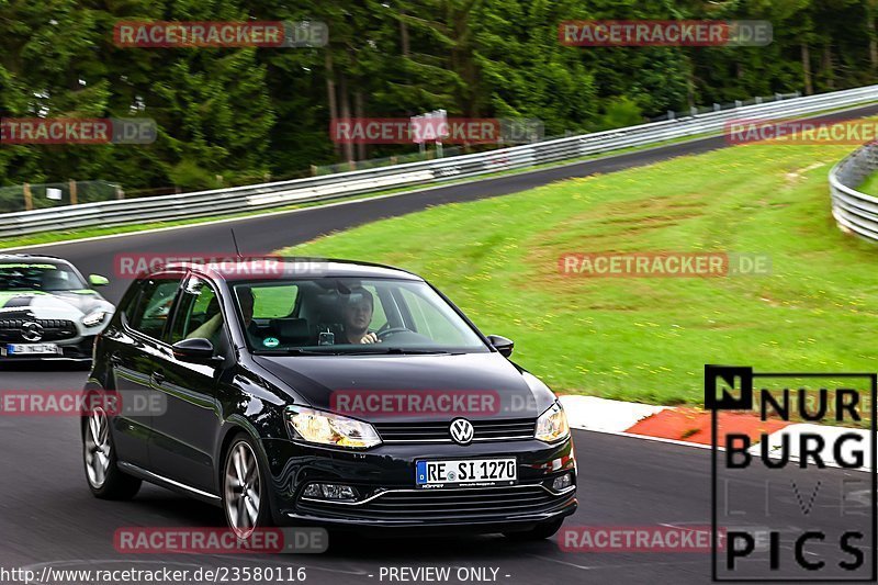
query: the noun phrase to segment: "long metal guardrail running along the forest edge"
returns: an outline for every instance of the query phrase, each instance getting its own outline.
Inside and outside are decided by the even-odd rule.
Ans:
[[[665,140],[717,134],[722,132],[727,122],[735,120],[781,120],[870,102],[878,102],[878,86],[711,111],[688,117],[513,146],[489,153],[179,195],[102,201],[7,213],[0,214],[0,238],[48,230],[216,216],[282,207],[295,203],[327,201],[387,189],[441,183],[654,145]],[[878,236],[878,232],[876,235]]]

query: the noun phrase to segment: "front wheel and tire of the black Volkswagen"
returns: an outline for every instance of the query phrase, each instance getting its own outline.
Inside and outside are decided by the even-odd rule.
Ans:
[[[250,436],[239,432],[232,439],[223,457],[219,475],[223,514],[226,525],[240,539],[249,538],[255,529],[271,526],[267,474],[258,453],[259,450]],[[238,463],[236,457],[240,458]],[[238,471],[244,475],[244,486],[239,485]],[[258,495],[258,502],[254,502],[255,495]],[[256,515],[252,514],[254,505]],[[246,521],[243,521],[245,516]]]

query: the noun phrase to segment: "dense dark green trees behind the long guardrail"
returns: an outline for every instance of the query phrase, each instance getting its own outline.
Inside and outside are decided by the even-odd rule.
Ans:
[[[3,184],[126,188],[293,176],[389,156],[344,146],[333,117],[521,116],[599,130],[754,94],[871,83],[876,0],[0,0],[0,115],[144,116],[149,146],[0,145]],[[123,48],[124,20],[327,23],[318,48]],[[562,46],[589,19],[769,20],[765,47]]]

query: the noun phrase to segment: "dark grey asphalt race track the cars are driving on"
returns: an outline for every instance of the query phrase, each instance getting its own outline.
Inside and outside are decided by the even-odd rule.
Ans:
[[[832,117],[878,112],[870,106]],[[829,116],[825,116],[829,117]],[[228,229],[234,225],[244,254],[266,254],[322,234],[401,215],[428,205],[471,201],[522,191],[595,172],[650,164],[674,156],[702,153],[725,145],[722,137],[677,144],[563,168],[502,177],[474,184],[449,185],[373,201],[314,207],[29,251],[74,261],[82,272],[111,277],[110,301],[117,301],[126,282],[113,279],[116,254],[227,254],[234,250]],[[829,198],[826,204],[829,205]],[[0,390],[81,389],[85,371],[63,367],[19,367],[0,371]],[[67,417],[0,417],[0,535],[4,545],[0,566],[42,569],[170,569],[293,565],[307,567],[307,583],[389,583],[382,567],[452,566],[498,570],[496,582],[561,583],[707,583],[708,553],[567,553],[554,540],[515,543],[499,536],[442,539],[333,540],[319,555],[121,555],[113,535],[121,527],[223,526],[222,511],[183,496],[145,485],[128,503],[94,499],[86,485],[76,420]],[[710,451],[630,437],[575,431],[579,470],[579,509],[565,526],[710,524]],[[837,485],[857,472],[813,471],[810,479]],[[767,476],[766,476],[767,477]],[[754,479],[754,482],[757,481]],[[807,488],[806,488],[807,490]],[[742,495],[740,505],[758,508],[757,491]],[[783,511],[778,514],[783,515]],[[783,518],[790,525],[798,518]],[[835,522],[842,518],[836,517]],[[764,562],[764,556],[762,556]],[[759,562],[759,561],[754,561]],[[452,572],[453,575],[453,572]],[[474,583],[477,581],[468,581]],[[458,583],[452,578],[450,583]]]

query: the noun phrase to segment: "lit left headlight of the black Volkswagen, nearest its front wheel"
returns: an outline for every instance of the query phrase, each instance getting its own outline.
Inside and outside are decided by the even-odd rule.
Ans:
[[[381,445],[381,437],[372,425],[346,416],[290,406],[286,409],[286,420],[296,438],[303,441],[350,449],[368,449]]]

